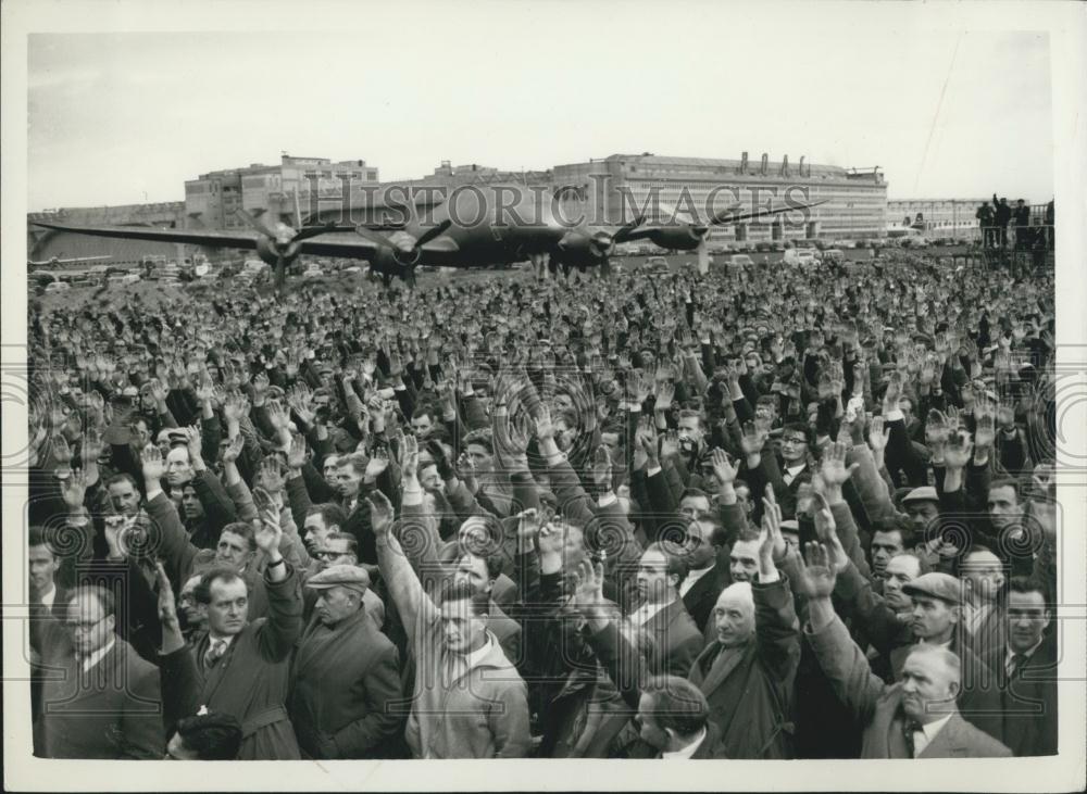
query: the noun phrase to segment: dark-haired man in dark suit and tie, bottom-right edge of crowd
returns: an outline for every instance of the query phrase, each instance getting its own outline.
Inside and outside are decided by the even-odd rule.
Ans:
[[[1000,689],[1001,741],[1016,756],[1057,754],[1057,639],[1048,587],[1014,577],[1005,607],[1007,645],[985,657]]]

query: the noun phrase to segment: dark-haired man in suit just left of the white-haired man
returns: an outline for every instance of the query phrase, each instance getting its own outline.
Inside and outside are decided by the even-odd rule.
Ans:
[[[679,598],[679,582],[686,566],[658,543],[650,545],[638,562],[635,580],[637,606],[628,618],[635,628],[646,629],[655,641],[651,664],[654,675],[686,676],[702,650],[702,633]]]

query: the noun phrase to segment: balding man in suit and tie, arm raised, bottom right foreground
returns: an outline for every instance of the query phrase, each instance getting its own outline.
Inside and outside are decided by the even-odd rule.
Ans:
[[[825,549],[801,566],[798,590],[808,597],[804,633],[835,692],[864,726],[862,758],[1003,758],[1011,751],[966,722],[955,701],[963,679],[959,657],[938,644],[911,645],[899,681],[873,675],[830,602],[835,572]]]

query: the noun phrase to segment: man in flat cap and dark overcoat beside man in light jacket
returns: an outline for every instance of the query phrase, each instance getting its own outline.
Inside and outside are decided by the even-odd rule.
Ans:
[[[290,672],[287,710],[311,758],[388,758],[402,719],[399,655],[363,604],[370,575],[332,565],[305,584],[317,593]]]

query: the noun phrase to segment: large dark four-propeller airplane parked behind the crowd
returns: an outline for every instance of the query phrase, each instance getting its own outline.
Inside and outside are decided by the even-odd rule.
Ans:
[[[566,273],[574,267],[580,272],[597,267],[601,275],[607,276],[610,273],[609,259],[617,243],[649,240],[665,249],[697,250],[700,269],[704,273],[709,267],[707,238],[712,228],[783,212],[803,211],[826,201],[791,203],[746,213],[734,204],[702,223],[690,216],[674,216],[669,223],[647,223],[645,216],[637,216],[623,225],[590,226],[584,222],[572,224],[565,220],[562,213],[557,212],[553,197],[527,190],[523,185],[495,184],[487,188],[491,190],[492,198],[487,198],[484,189],[463,190],[457,193],[455,205],[445,198],[437,198],[429,204],[416,203],[414,212],[402,204],[367,206],[365,210],[371,219],[352,225],[343,225],[345,211],[341,207],[311,214],[307,218],[310,223],[303,224],[297,196],[295,227],[282,220],[268,224],[264,217],[254,217],[245,210],[239,210],[237,215],[251,230],[34,223],[58,231],[95,237],[255,251],[272,266],[276,289],[282,291],[287,267],[303,254],[365,260],[370,263],[371,273],[382,276],[388,286],[393,277],[413,285],[415,268],[421,265],[479,268],[525,260],[530,260],[534,265],[546,262],[552,268],[561,265]],[[502,202],[501,196],[516,197],[516,201],[513,204]],[[375,219],[377,211],[390,207],[399,213],[399,217],[392,220]],[[323,220],[323,215],[335,217]],[[511,217],[520,220],[527,218],[528,222],[511,224]],[[471,223],[464,222],[465,218],[471,218]]]

